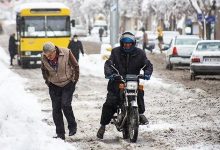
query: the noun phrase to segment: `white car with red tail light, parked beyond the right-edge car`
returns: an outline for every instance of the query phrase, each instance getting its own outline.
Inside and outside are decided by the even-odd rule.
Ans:
[[[190,56],[199,40],[195,35],[175,36],[166,51],[166,68],[172,70],[173,66],[189,66]]]

